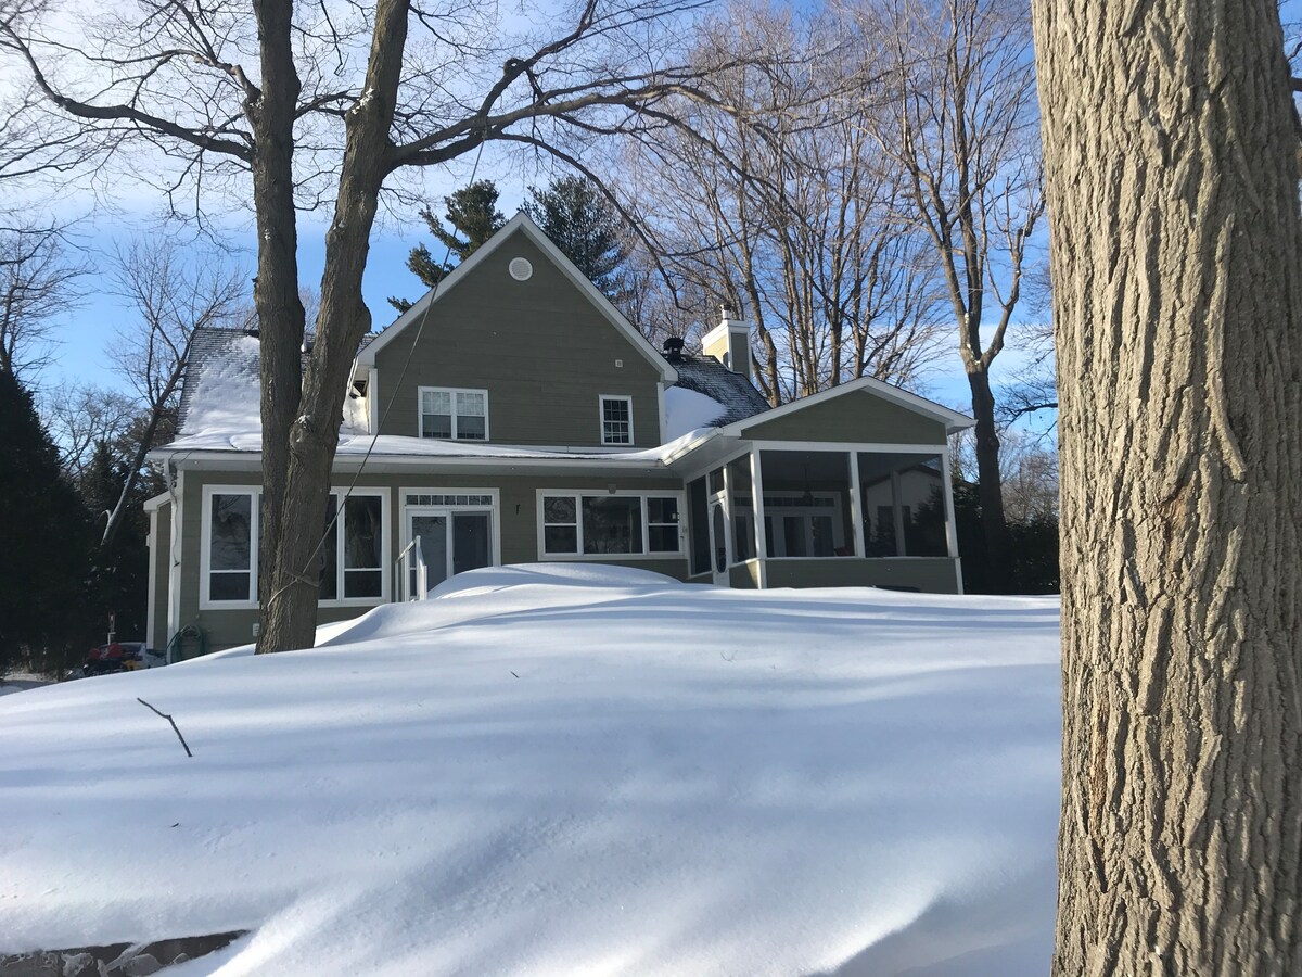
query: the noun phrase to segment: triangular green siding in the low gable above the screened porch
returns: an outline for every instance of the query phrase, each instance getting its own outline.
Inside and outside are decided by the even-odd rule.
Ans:
[[[790,442],[944,444],[945,426],[868,391],[852,391],[743,427],[743,438]]]

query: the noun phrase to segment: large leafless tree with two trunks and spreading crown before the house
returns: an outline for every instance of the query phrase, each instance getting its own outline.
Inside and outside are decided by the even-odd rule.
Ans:
[[[22,72],[64,135],[102,164],[147,159],[178,208],[251,198],[262,337],[260,651],[315,634],[314,547],[349,365],[371,317],[362,272],[380,194],[410,168],[487,143],[573,159],[566,146],[665,125],[671,98],[708,98],[704,66],[673,56],[699,0],[586,0],[562,10],[490,0],[296,4],[135,0],[77,43],[46,0],[0,13],[0,57]],[[531,14],[546,29],[513,29]],[[509,18],[509,20],[508,20]],[[141,155],[139,150],[151,155]],[[251,190],[251,194],[250,194]],[[316,340],[299,345],[298,207],[332,211]]]

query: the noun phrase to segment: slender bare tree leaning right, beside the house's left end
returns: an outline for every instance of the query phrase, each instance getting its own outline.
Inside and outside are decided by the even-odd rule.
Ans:
[[[181,251],[167,238],[137,240],[116,255],[115,279],[120,297],[133,307],[135,320],[117,337],[109,358],[135,392],[143,423],[126,461],[126,481],[108,515],[100,548],[108,548],[126,502],[145,469],[159,425],[176,410],[181,380],[197,330],[234,326],[241,315],[247,276],[220,255]]]

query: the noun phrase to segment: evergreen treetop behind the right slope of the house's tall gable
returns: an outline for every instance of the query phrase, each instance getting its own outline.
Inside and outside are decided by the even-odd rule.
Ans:
[[[621,298],[628,228],[611,202],[579,176],[559,177],[543,190],[531,186],[530,193],[525,211],[534,223],[607,298]]]

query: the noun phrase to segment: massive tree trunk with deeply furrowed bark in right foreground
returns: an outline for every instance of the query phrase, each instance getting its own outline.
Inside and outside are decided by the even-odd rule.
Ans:
[[[1062,483],[1053,972],[1302,973],[1302,228],[1275,0],[1035,0]]]

